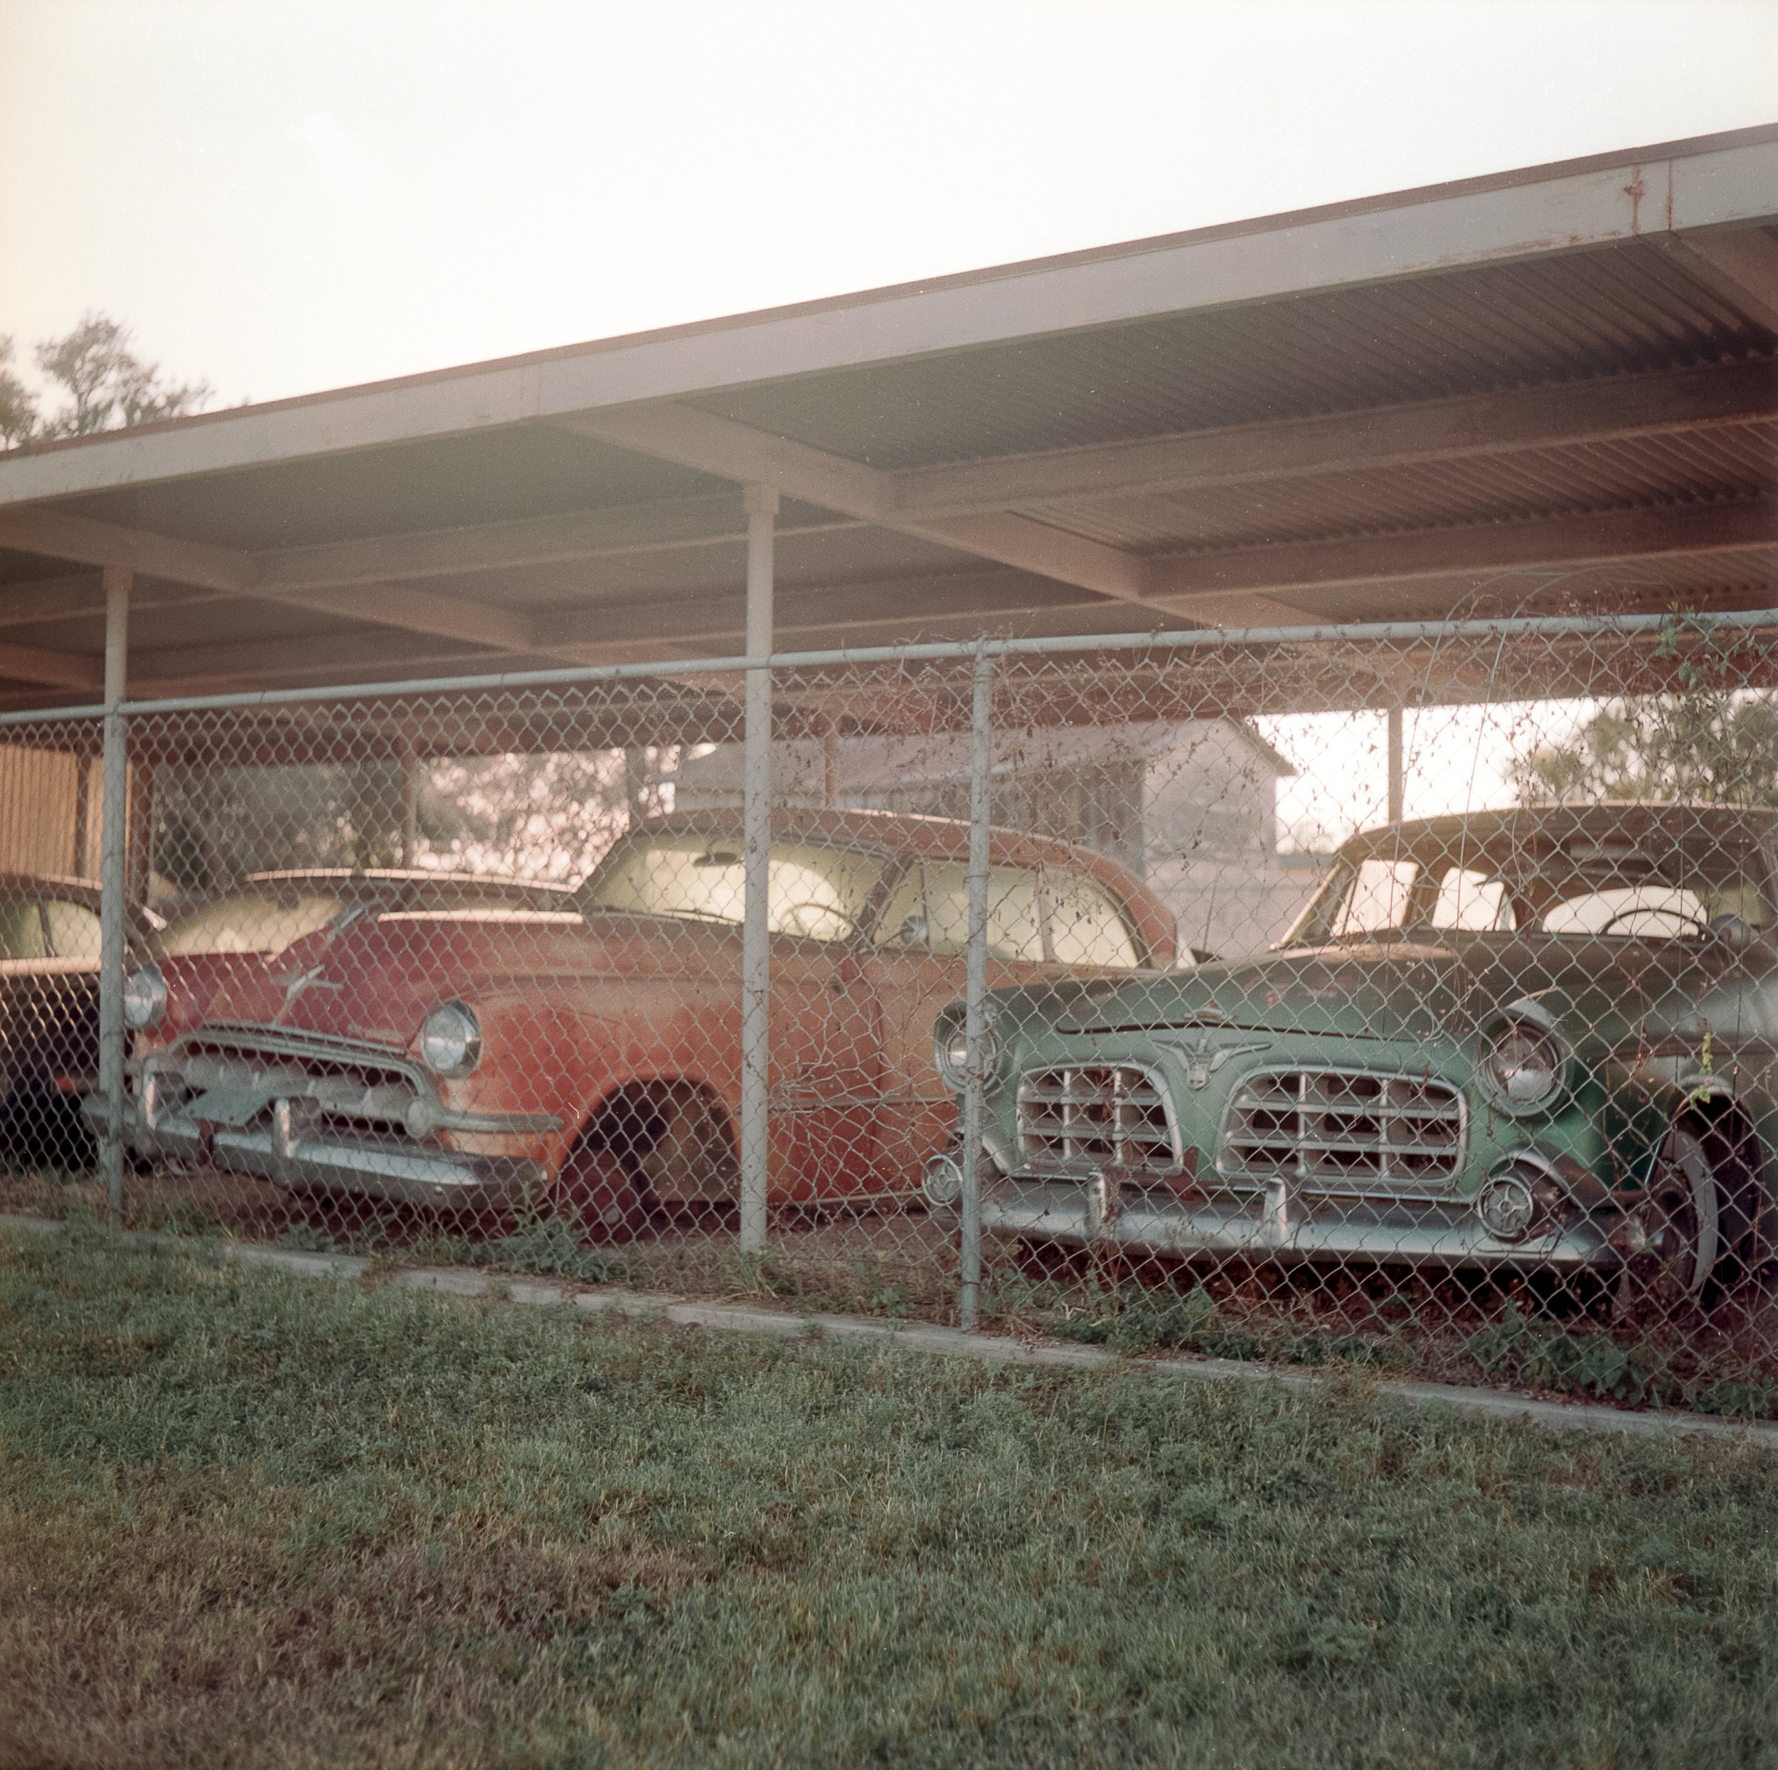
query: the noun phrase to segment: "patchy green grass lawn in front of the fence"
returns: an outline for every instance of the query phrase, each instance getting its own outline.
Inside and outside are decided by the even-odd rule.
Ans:
[[[0,1765],[1769,1765],[1778,1459],[0,1235]]]

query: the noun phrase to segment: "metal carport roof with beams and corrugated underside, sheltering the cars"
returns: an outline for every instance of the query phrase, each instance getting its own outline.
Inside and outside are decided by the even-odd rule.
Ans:
[[[1778,126],[0,457],[0,704],[1764,606]]]

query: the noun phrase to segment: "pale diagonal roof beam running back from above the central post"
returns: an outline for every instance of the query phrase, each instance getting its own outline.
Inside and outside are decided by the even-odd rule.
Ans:
[[[893,474],[690,405],[663,402],[581,412],[558,423],[576,435],[613,442],[638,455],[672,460],[741,485],[775,485],[779,492],[825,510],[935,540],[999,565],[1017,565],[1122,602],[1143,601],[1141,560],[1133,553],[1005,512],[955,519],[903,515],[896,508]]]

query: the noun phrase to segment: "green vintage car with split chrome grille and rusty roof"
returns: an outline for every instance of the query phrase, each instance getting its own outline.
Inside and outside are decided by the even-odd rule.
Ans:
[[[989,997],[981,1224],[1175,1255],[1629,1265],[1771,1251],[1774,814],[1371,830],[1269,953]],[[964,1088],[964,1009],[935,1025]],[[928,1166],[955,1200],[958,1152]]]

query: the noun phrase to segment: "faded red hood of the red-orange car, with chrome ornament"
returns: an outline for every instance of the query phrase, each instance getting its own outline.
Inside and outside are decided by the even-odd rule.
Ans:
[[[203,1018],[405,1048],[420,1022],[452,999],[478,1008],[535,995],[541,979],[708,972],[727,949],[738,956],[738,945],[725,928],[635,917],[386,917],[231,969],[215,979]],[[181,988],[171,967],[169,988]]]

